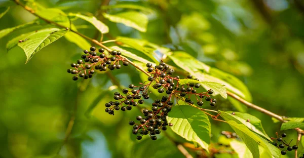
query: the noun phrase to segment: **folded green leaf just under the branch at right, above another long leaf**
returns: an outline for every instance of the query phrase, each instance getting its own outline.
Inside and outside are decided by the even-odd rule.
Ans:
[[[271,138],[264,131],[261,121],[257,119],[257,117],[242,112],[234,112],[235,114],[232,114],[232,111],[220,111],[220,112],[221,115],[225,116],[224,119],[226,121],[233,120],[237,123],[241,123],[246,127],[248,127],[248,129],[250,129],[251,131],[263,136],[268,140],[271,140]]]

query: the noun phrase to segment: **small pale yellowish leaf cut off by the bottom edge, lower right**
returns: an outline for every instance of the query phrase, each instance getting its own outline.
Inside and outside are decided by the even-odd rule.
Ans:
[[[232,140],[230,142],[231,148],[233,148],[236,153],[239,155],[239,158],[252,158],[252,153],[246,146],[244,142],[238,141],[238,140]]]

